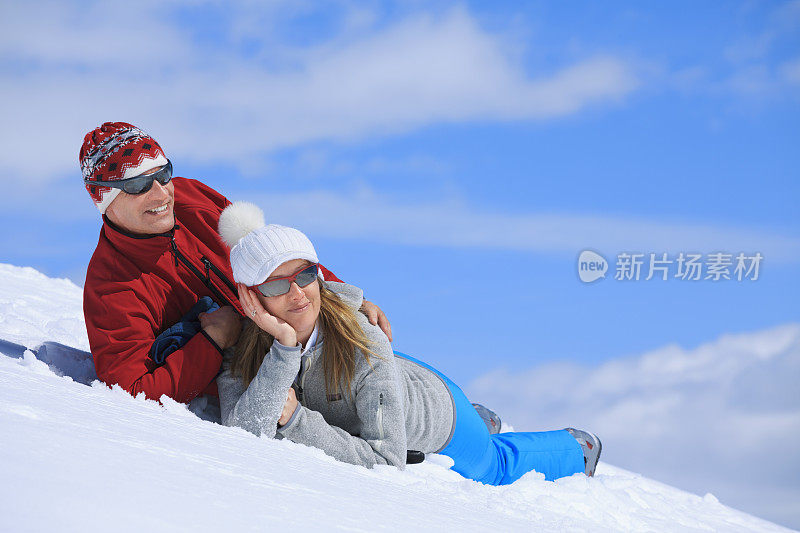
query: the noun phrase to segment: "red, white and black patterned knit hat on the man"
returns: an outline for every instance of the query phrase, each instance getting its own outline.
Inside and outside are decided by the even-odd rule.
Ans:
[[[136,126],[127,122],[106,122],[83,138],[78,162],[83,179],[116,181],[166,165],[167,157],[155,139]],[[86,190],[100,214],[105,214],[114,198],[122,192],[89,184],[86,184]]]

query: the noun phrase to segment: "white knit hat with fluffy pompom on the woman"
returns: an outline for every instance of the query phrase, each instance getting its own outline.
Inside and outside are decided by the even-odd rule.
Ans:
[[[292,259],[318,263],[314,245],[303,232],[264,224],[264,212],[250,202],[234,202],[219,217],[219,234],[231,248],[233,279],[247,286],[263,283]],[[320,277],[322,271],[320,270]]]

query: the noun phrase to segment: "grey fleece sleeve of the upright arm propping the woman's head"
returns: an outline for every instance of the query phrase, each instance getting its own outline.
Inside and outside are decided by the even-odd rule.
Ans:
[[[217,378],[222,423],[255,435],[275,437],[286,395],[300,371],[300,345],[272,343],[258,373],[245,389],[242,380],[225,370]]]

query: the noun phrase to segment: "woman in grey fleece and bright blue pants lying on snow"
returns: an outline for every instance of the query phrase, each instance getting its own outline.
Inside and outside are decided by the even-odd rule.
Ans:
[[[403,468],[406,451],[441,453],[492,485],[531,470],[593,475],[600,441],[568,429],[490,435],[464,393],[428,365],[392,353],[358,312],[357,287],[324,282],[300,231],[265,226],[244,202],[220,217],[246,321],[217,379],[222,421],[358,465]],[[287,396],[288,395],[288,396]]]

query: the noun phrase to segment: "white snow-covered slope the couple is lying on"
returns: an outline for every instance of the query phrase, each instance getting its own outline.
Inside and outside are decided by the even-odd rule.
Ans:
[[[0,295],[0,338],[87,349],[71,282],[0,265]],[[3,531],[788,531],[603,462],[594,478],[505,487],[441,456],[404,472],[339,463],[203,420],[205,399],[161,405],[92,382],[86,359],[59,353],[0,355]]]

